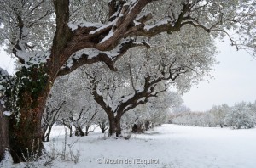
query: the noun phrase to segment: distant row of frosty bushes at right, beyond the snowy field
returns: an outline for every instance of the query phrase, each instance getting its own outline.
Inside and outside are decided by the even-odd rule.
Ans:
[[[256,126],[255,104],[241,102],[229,107],[227,104],[213,106],[206,112],[173,114],[171,122],[189,126],[230,126],[252,128]]]

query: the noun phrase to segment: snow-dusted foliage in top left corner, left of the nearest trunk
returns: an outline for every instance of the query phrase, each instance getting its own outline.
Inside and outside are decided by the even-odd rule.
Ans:
[[[55,25],[50,1],[1,1],[0,43],[25,66],[45,63]],[[20,65],[21,65],[20,64]]]

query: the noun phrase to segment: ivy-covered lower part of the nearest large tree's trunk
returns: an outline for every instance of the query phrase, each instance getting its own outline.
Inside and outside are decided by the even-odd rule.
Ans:
[[[32,76],[32,81],[38,81],[40,77],[38,72]],[[19,99],[15,104],[18,109],[9,119],[10,154],[15,163],[26,161],[31,154],[35,154],[35,157],[42,154],[44,132],[41,120],[50,91],[49,82],[44,82],[43,87],[42,83],[28,83],[17,89]],[[38,92],[32,92],[34,89],[38,89]]]

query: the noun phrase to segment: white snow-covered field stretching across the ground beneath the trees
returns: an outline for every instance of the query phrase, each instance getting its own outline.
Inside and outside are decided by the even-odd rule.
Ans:
[[[63,151],[63,128],[54,127],[51,141],[45,143],[49,151]],[[106,139],[101,132],[90,132],[88,137],[67,137],[67,152],[68,146],[73,154],[79,151],[79,162],[55,160],[52,167],[256,167],[256,129],[166,124],[145,134],[132,135],[129,140]]]

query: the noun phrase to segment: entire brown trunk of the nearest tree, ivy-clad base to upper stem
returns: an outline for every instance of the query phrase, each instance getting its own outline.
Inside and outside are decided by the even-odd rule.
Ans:
[[[67,23],[69,1],[54,1],[56,31],[49,59],[45,64],[22,67],[15,74],[14,115],[9,119],[10,153],[15,163],[26,161],[31,154],[42,154],[44,132],[41,120],[50,87],[54,84],[59,70],[71,53],[65,54],[67,42],[72,35]],[[19,48],[18,48],[19,49]],[[72,133],[72,130],[71,130]],[[70,134],[70,136],[72,136]]]

